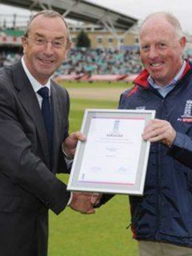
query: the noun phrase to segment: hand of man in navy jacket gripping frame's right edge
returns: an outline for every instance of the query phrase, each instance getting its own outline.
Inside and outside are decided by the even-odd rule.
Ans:
[[[150,120],[144,128],[142,138],[150,142],[161,141],[170,147],[176,137],[176,131],[171,124],[165,120]]]

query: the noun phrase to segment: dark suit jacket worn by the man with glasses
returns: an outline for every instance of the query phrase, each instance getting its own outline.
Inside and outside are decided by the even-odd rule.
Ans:
[[[69,95],[51,82],[52,167],[43,117],[21,61],[0,69],[0,255],[46,256],[48,209],[69,200],[56,172],[67,172],[62,141],[68,136]]]

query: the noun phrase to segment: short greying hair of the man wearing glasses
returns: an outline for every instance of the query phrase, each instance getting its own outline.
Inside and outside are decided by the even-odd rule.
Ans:
[[[59,14],[59,12],[57,12],[57,11],[43,10],[43,11],[39,11],[35,15],[33,15],[31,20],[27,24],[26,30],[24,32],[24,37],[28,37],[32,21],[37,16],[40,16],[40,15],[43,15],[44,17],[48,17],[48,18],[59,17],[64,21],[64,24],[65,24],[65,27],[66,27],[66,30],[67,30],[67,45],[66,45],[66,48],[69,49],[71,47],[71,38],[70,38],[69,28],[68,28],[67,22],[65,21],[64,17],[61,14]]]

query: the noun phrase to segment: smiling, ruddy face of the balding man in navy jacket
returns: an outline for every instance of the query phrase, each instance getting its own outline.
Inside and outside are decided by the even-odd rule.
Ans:
[[[140,55],[156,84],[169,84],[179,72],[185,43],[185,37],[177,37],[175,27],[165,16],[151,16],[144,22],[140,31]]]

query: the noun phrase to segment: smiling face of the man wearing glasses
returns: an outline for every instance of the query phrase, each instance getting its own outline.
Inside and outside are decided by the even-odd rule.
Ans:
[[[67,29],[64,21],[56,17],[37,16],[30,25],[28,37],[22,38],[24,60],[32,76],[42,85],[62,64],[68,50]],[[48,40],[44,45],[36,41]],[[50,41],[59,41],[62,48],[54,48]]]

